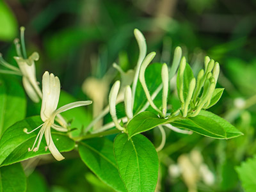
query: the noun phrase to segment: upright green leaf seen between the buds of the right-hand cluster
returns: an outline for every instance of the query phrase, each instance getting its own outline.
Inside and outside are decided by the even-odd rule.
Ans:
[[[179,69],[180,70],[180,69]],[[179,70],[177,74],[177,92],[180,91],[180,76],[179,76]],[[184,79],[183,79],[183,96],[184,100],[186,100],[188,95],[188,89],[189,89],[189,83],[194,78],[193,71],[188,63],[186,63],[186,67],[184,70]]]

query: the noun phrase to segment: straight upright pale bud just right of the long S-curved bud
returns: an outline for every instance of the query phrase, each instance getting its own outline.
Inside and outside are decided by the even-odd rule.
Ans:
[[[169,86],[168,67],[166,63],[163,64],[161,74],[162,74],[162,82],[163,82],[162,107],[163,107],[163,115],[165,116],[167,111],[167,97],[168,97],[168,86]]]

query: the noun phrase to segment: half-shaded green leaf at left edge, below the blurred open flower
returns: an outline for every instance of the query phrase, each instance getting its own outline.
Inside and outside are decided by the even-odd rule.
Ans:
[[[25,93],[18,81],[0,76],[0,138],[3,132],[26,115]]]

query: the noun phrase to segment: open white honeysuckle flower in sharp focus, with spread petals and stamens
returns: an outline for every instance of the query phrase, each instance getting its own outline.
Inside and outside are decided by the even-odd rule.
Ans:
[[[58,101],[60,97],[60,80],[54,74],[49,74],[49,72],[45,72],[42,79],[42,107],[41,107],[41,119],[44,122],[42,125],[36,127],[36,129],[40,129],[36,136],[36,140],[33,144],[32,148],[28,148],[29,151],[38,151],[40,147],[40,143],[42,141],[43,136],[45,135],[45,140],[47,143],[47,148],[49,148],[52,156],[58,161],[64,159],[64,157],[60,154],[59,150],[54,145],[51,136],[51,128],[56,131],[67,132],[68,129],[65,127],[61,127],[60,125],[54,124],[54,119],[56,115],[60,114],[63,111],[67,111],[68,109],[77,108],[79,106],[86,106],[88,104],[92,104],[91,100],[84,100],[78,102],[72,102],[61,108],[57,109]],[[35,131],[34,129],[33,131]],[[28,132],[28,129],[24,129],[24,132],[27,134],[33,132]],[[36,145],[37,142],[37,145]],[[35,147],[36,145],[36,147]]]

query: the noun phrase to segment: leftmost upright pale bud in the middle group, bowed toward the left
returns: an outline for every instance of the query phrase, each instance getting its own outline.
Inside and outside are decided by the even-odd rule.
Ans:
[[[114,124],[116,125],[116,128],[119,129],[120,131],[124,131],[124,127],[122,127],[119,123],[118,123],[118,119],[116,116],[116,98],[119,92],[119,88],[120,88],[120,81],[116,81],[109,93],[109,113],[113,119]]]

